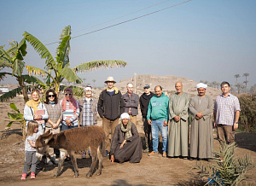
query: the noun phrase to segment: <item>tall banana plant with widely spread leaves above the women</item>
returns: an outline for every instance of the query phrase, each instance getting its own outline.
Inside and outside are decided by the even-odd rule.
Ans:
[[[84,73],[96,68],[101,67],[125,67],[125,61],[90,61],[84,62],[77,67],[69,67],[69,51],[70,51],[70,39],[71,39],[71,26],[66,26],[60,36],[60,43],[57,47],[56,59],[49,53],[49,50],[42,44],[38,38],[32,36],[28,32],[23,33],[26,41],[32,44],[32,47],[37,50],[42,59],[45,59],[45,70],[38,67],[26,66],[29,74],[34,73],[38,75],[47,75],[47,85],[49,87],[55,87],[55,92],[59,95],[60,84],[63,79],[67,81],[81,84],[82,79],[79,78],[77,73]],[[53,73],[53,74],[52,74]]]

